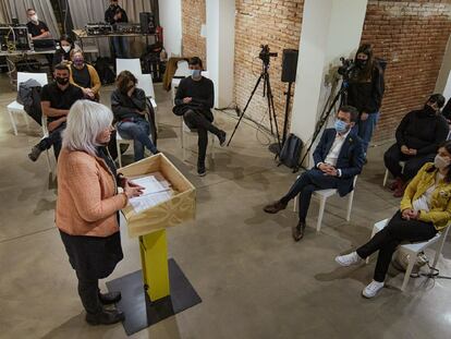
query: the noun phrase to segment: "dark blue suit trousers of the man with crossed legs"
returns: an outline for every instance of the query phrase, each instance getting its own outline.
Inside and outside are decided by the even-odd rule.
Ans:
[[[339,180],[340,179],[336,177],[325,175],[325,173],[318,169],[310,169],[297,178],[289,193],[287,193],[280,201],[283,204],[288,204],[288,202],[301,193],[298,199],[300,221],[305,222],[312,194],[319,190],[337,189]]]

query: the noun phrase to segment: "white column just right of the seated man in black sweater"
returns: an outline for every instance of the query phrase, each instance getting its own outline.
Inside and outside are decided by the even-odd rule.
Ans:
[[[215,107],[233,100],[235,1],[206,0],[207,68],[215,83]]]

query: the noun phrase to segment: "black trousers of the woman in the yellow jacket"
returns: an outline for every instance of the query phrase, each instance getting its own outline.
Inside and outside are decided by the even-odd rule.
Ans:
[[[356,252],[359,257],[366,258],[379,251],[374,279],[382,282],[386,279],[391,257],[401,242],[426,241],[436,234],[437,230],[432,222],[405,220],[399,210],[382,230],[376,233],[366,244],[358,247]]]

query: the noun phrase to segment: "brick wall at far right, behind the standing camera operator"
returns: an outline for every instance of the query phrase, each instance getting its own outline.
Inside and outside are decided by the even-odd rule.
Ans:
[[[368,1],[362,43],[388,61],[374,142],[393,138],[402,117],[432,94],[450,32],[448,0]]]

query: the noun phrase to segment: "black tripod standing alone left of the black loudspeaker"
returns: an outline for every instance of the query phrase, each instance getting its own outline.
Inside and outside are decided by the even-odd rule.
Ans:
[[[233,130],[232,135],[230,136],[229,142],[227,143],[228,146],[232,142],[233,135],[235,135],[235,132],[236,132],[236,130],[237,130],[237,128],[239,128],[239,125],[241,123],[241,120],[243,119],[244,113],[246,112],[247,107],[249,106],[251,100],[254,97],[254,94],[257,90],[258,85],[260,84],[260,82],[263,80],[264,81],[264,94],[263,95],[264,95],[264,97],[266,96],[267,101],[268,101],[268,113],[269,113],[269,124],[270,124],[270,129],[271,129],[271,135],[275,134],[273,131],[276,130],[277,144],[278,144],[278,147],[279,147],[279,152],[280,152],[280,149],[282,149],[281,144],[280,144],[279,126],[277,124],[275,101],[273,101],[273,97],[272,97],[271,83],[269,81],[269,72],[268,72],[268,69],[269,69],[269,62],[267,63],[267,62],[264,61],[261,74],[258,77],[257,83],[255,84],[254,89],[252,90],[249,98],[247,99],[246,106],[244,106],[243,112],[240,116],[240,119],[239,119],[239,121],[237,121],[237,123],[236,123],[236,125],[235,125],[235,128]],[[272,128],[272,121],[275,123],[275,128]]]

